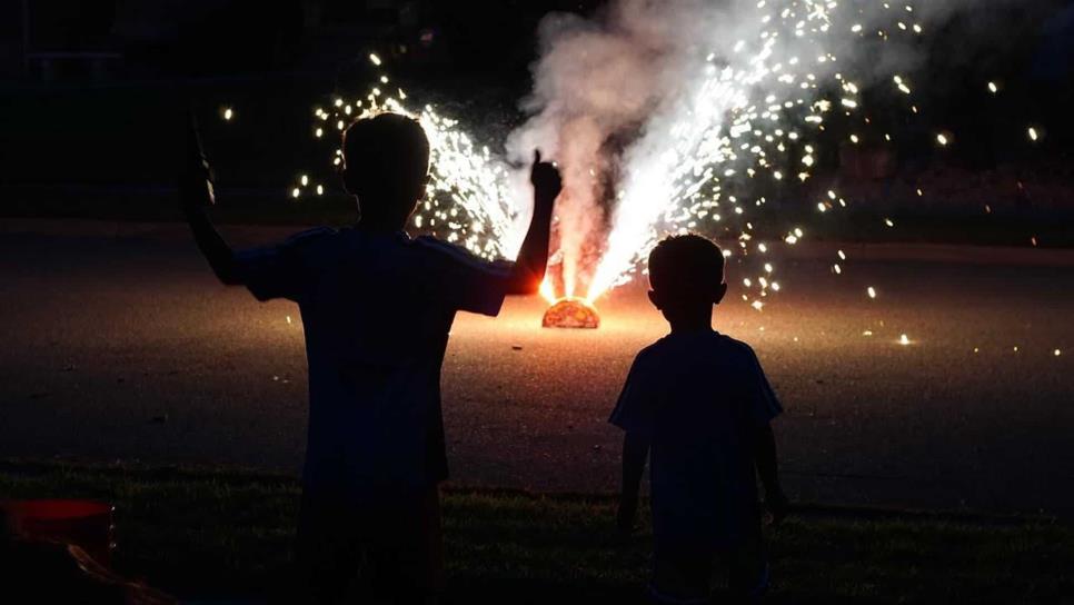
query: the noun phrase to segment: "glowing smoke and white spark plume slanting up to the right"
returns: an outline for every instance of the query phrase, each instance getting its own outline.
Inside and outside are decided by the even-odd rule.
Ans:
[[[745,166],[742,143],[756,125],[785,108],[807,113],[818,82],[889,79],[922,60],[901,30],[1006,1],[615,0],[591,19],[547,17],[523,103],[531,118],[508,151],[524,162],[540,148],[561,165],[565,294],[593,297],[621,281],[662,220],[712,191],[717,167]],[[762,152],[760,166],[774,172],[773,155]]]

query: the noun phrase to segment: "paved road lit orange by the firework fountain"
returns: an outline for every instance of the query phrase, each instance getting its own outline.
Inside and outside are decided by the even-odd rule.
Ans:
[[[175,226],[119,231],[0,225],[0,456],[296,470],[306,423],[296,307],[215,284]],[[780,262],[783,292],[764,313],[734,301],[718,317],[754,344],[785,401],[788,489],[1074,515],[1074,256],[847,251],[837,277],[834,249],[802,248]],[[496,320],[459,316],[444,371],[454,478],[613,489],[619,435],[605,418],[633,355],[664,326],[637,288],[600,304],[596,331],[540,329],[543,307],[516,299]],[[913,344],[898,345],[902,334]]]

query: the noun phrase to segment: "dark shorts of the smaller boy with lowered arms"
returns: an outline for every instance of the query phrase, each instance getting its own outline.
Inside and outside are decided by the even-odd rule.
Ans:
[[[759,519],[745,539],[729,548],[656,539],[649,596],[654,603],[664,604],[710,603],[716,562],[727,567],[727,585],[734,598],[759,599],[768,588],[768,558]]]

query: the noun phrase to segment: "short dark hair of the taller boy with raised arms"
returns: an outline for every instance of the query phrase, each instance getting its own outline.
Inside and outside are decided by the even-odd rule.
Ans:
[[[347,128],[344,159],[358,180],[377,179],[381,187],[405,188],[429,173],[429,139],[417,120],[378,113]]]

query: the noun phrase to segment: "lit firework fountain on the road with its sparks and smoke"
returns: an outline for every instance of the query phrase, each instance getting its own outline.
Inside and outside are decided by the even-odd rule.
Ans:
[[[509,137],[506,158],[434,108],[408,107],[387,75],[362,99],[317,108],[315,136],[378,111],[418,119],[432,178],[415,227],[487,258],[513,258],[528,218],[529,194],[517,185],[525,179],[510,166],[534,148],[557,158],[565,189],[540,289],[554,304],[546,326],[599,325],[593,302],[629,281],[663,235],[686,230],[733,241],[725,255],[746,271],[743,299],[762,310],[780,288],[778,248],[805,237],[802,226],[783,225],[775,241],[760,239],[764,192],[812,178],[833,117],[849,130],[843,145],[893,142],[897,132],[873,126],[862,92],[886,89],[902,110],[919,111],[905,72],[916,38],[956,8],[943,4],[619,0],[593,20],[544,20],[534,93],[523,103],[530,118]],[[377,56],[370,61],[380,67]],[[937,132],[937,145],[948,142]],[[301,177],[292,195],[307,184]],[[818,218],[848,205],[835,190],[804,202]],[[834,271],[846,260],[841,250]],[[876,297],[874,287],[867,292]]]

